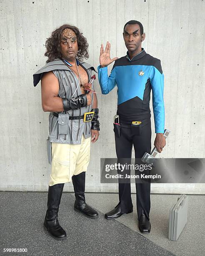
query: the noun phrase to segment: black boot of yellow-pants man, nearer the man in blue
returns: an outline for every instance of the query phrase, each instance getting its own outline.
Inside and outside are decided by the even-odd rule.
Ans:
[[[74,210],[81,212],[86,217],[96,219],[98,213],[85,202],[85,172],[72,176],[72,184],[75,191]]]

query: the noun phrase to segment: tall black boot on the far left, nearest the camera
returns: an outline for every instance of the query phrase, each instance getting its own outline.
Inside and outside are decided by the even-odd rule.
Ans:
[[[48,187],[47,212],[43,224],[45,230],[47,230],[49,235],[57,240],[63,240],[66,238],[65,230],[62,229],[57,220],[57,213],[60,205],[63,187],[64,183]]]

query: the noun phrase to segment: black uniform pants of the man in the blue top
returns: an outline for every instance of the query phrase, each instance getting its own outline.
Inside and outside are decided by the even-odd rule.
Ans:
[[[145,120],[144,120],[145,121]],[[142,120],[143,123],[143,120]],[[115,133],[115,149],[117,154],[117,162],[120,164],[126,163],[131,164],[132,148],[134,145],[135,149],[135,164],[143,164],[142,161],[139,161],[145,152],[150,154],[151,151],[151,122],[150,119],[146,120],[146,125],[142,127],[140,135],[133,135],[131,132],[131,123],[123,124],[121,123],[121,133],[118,137]],[[128,161],[128,159],[130,159]],[[146,171],[144,171],[145,173]],[[117,170],[118,174],[122,174],[120,170]],[[139,174],[140,172],[135,172]],[[130,175],[130,169],[127,169],[126,172],[123,171],[123,174]],[[148,171],[145,174],[150,174]],[[125,176],[124,176],[125,177]],[[122,183],[125,182],[126,183]],[[139,179],[138,179],[139,181]],[[119,200],[121,212],[125,213],[133,209],[133,203],[131,199],[131,187],[130,179],[118,179],[119,182]],[[144,209],[146,216],[149,219],[150,212],[150,180],[145,183],[136,183],[136,197],[137,197],[137,212],[138,220],[140,219],[142,210]]]

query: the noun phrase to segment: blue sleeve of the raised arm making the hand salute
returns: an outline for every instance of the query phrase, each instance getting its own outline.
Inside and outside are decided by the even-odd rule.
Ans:
[[[116,86],[115,68],[112,69],[109,77],[107,75],[107,67],[101,68],[98,66],[97,72],[102,94],[108,94]]]

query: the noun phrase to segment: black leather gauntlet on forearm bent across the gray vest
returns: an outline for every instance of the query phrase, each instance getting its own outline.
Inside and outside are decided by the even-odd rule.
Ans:
[[[87,106],[87,97],[85,94],[81,94],[70,99],[62,98],[62,104],[65,112],[70,109],[79,109]]]

